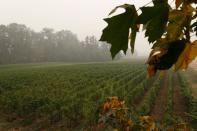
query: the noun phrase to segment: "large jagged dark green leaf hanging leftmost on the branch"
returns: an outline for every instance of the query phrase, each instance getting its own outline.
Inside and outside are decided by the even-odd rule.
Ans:
[[[123,50],[126,54],[130,29],[133,29],[132,31],[135,33],[136,30],[134,30],[134,27],[137,26],[136,20],[138,15],[135,6],[128,4],[118,6],[112,10],[111,13],[114,13],[119,7],[124,8],[125,12],[111,18],[104,19],[108,23],[108,26],[103,30],[103,34],[100,39],[100,41],[105,41],[112,45],[110,49],[112,58],[114,58],[120,50]],[[135,36],[132,36],[132,39],[135,39]],[[134,40],[132,40],[132,47],[134,47]]]

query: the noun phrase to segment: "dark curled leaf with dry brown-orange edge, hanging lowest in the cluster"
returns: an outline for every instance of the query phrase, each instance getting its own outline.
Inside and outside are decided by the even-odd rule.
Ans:
[[[186,41],[176,40],[166,44],[166,48],[155,47],[152,50],[147,61],[149,77],[154,76],[157,70],[167,70],[171,68],[184,51]]]

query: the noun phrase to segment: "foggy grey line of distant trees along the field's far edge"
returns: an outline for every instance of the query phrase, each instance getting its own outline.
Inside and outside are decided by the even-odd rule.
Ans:
[[[111,60],[109,45],[94,36],[79,41],[68,30],[43,28],[35,32],[22,24],[0,25],[0,64],[107,60]]]

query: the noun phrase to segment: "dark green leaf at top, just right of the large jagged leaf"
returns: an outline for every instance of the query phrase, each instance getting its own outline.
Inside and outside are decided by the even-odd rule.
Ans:
[[[166,29],[168,21],[169,5],[167,3],[157,3],[152,7],[142,7],[142,14],[138,23],[146,26],[145,36],[149,42],[154,42],[161,38]]]

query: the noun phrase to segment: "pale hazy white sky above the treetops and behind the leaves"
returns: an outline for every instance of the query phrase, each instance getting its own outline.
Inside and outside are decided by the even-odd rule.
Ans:
[[[117,5],[130,3],[138,7],[150,0],[0,0],[0,24],[25,24],[35,31],[43,27],[71,30],[83,40],[87,35],[100,37],[106,23],[102,20]],[[121,9],[120,9],[121,11]],[[136,48],[148,54],[144,36],[137,37]]]

